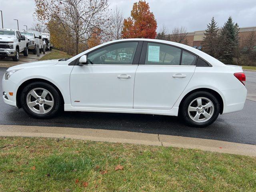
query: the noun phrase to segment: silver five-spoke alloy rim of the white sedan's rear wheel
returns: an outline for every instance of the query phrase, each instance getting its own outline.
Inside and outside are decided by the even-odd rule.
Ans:
[[[188,115],[195,122],[206,122],[214,113],[214,104],[205,97],[198,97],[190,102]]]

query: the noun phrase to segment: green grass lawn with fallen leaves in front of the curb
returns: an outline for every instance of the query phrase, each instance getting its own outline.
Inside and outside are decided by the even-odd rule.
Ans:
[[[254,192],[256,158],[173,147],[2,137],[0,191]]]

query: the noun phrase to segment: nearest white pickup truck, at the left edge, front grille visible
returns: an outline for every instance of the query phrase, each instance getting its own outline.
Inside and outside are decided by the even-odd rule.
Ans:
[[[20,60],[20,53],[28,56],[28,38],[13,29],[0,29],[0,58],[12,57],[13,61]]]

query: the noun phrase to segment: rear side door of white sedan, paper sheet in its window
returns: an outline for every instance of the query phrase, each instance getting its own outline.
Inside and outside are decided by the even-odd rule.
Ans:
[[[196,60],[196,55],[181,48],[144,42],[136,70],[133,108],[172,108],[194,74]]]

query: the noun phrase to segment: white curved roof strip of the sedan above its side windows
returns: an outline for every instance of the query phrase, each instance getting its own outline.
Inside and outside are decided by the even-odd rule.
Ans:
[[[166,41],[166,40],[159,40],[159,39],[143,39],[143,38],[131,38],[131,39],[120,39],[120,40],[114,40],[114,41],[110,41],[110,42],[106,42],[106,43],[103,43],[103,44],[100,44],[98,46],[95,46],[93,48],[90,48],[72,58],[69,59],[69,61],[72,61],[72,60],[75,60],[76,58],[79,58],[80,56],[94,50],[94,49],[97,49],[97,48],[100,48],[102,46],[105,46],[105,45],[108,45],[108,44],[112,44],[112,43],[115,43],[115,42],[126,42],[126,41],[147,41],[147,42],[153,42],[153,43],[163,43],[163,44],[169,44],[169,45],[172,45],[172,46],[176,46],[176,47],[180,47],[180,48],[183,48],[184,50],[188,50],[196,55],[198,55],[199,57],[203,58],[204,60],[206,60],[207,62],[209,62],[210,64],[213,64],[213,65],[224,65],[222,62],[220,62],[219,60],[215,59],[214,57],[198,50],[198,49],[195,49],[191,46],[188,46],[188,45],[184,45],[184,44],[181,44],[181,43],[177,43],[177,42],[172,42],[172,41]]]

